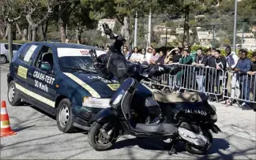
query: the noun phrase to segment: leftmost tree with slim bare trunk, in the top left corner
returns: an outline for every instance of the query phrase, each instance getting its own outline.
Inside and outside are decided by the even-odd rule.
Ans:
[[[2,0],[0,2],[1,13],[0,17],[2,23],[6,23],[8,27],[8,38],[9,38],[9,61],[13,59],[13,30],[12,25],[14,22],[21,18],[21,10],[17,8],[18,3],[15,0]],[[7,29],[6,29],[7,32]]]

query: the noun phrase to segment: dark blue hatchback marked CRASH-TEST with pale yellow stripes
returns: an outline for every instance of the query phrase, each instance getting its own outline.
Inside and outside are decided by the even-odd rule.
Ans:
[[[109,106],[119,87],[96,73],[88,54],[92,49],[105,54],[77,44],[24,43],[9,65],[9,103],[18,106],[23,99],[56,116],[62,132],[88,129],[88,121]]]

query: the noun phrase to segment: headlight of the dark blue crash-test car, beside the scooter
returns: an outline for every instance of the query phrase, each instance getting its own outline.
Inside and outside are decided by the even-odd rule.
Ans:
[[[92,108],[107,108],[111,107],[109,105],[110,99],[97,99],[93,97],[85,97],[82,106],[92,107]]]

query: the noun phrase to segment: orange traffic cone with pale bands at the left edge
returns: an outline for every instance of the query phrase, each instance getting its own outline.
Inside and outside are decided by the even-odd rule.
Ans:
[[[1,104],[1,137],[2,136],[11,136],[16,135],[16,132],[13,132],[12,128],[9,126],[9,115],[6,109],[6,101],[2,101]]]

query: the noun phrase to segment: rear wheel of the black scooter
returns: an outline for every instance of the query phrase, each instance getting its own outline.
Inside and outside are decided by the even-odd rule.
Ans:
[[[209,132],[209,130],[202,131],[202,132],[207,140],[207,144],[205,145],[205,147],[199,148],[199,147],[193,146],[190,143],[185,143],[185,149],[190,154],[205,154],[205,152],[209,151],[209,149],[212,147],[213,135],[211,134],[211,132]]]

